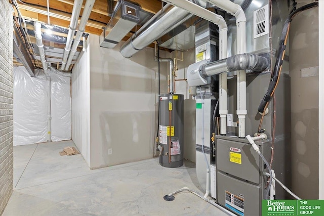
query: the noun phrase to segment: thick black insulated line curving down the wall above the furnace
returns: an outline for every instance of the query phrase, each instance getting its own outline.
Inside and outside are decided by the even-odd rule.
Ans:
[[[310,8],[313,8],[316,6],[318,6],[318,2],[304,5],[303,7],[298,8],[297,10],[295,10],[293,13],[291,13],[288,16],[288,18],[285,22],[284,28],[282,29],[280,42],[279,42],[278,56],[275,61],[275,65],[274,65],[274,69],[273,69],[273,72],[271,75],[269,87],[268,87],[268,90],[265,93],[265,95],[259,105],[259,108],[258,108],[259,112],[262,112],[262,113],[264,112],[264,109],[266,109],[266,107],[268,106],[268,104],[272,98],[272,95],[277,87],[277,84],[279,82],[281,66],[282,66],[282,62],[284,61],[284,56],[285,56],[287,36],[289,33],[289,27],[290,27],[290,23],[291,23],[292,19],[295,17],[295,15],[297,15],[301,11],[304,11],[306,9],[310,9]]]

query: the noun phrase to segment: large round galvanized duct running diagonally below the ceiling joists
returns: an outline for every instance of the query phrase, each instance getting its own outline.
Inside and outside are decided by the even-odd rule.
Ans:
[[[121,46],[121,55],[125,58],[131,58],[135,53],[144,49],[157,38],[176,28],[192,16],[192,14],[183,9],[170,6],[169,4],[166,5]]]

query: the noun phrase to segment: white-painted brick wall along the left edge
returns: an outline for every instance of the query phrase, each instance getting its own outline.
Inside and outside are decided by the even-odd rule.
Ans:
[[[13,20],[0,0],[0,215],[13,191]]]

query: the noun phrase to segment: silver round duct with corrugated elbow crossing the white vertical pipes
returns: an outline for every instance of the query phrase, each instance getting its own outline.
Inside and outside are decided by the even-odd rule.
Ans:
[[[268,60],[265,57],[245,53],[201,65],[199,73],[202,77],[206,78],[208,76],[237,70],[262,72],[267,69],[267,67]]]

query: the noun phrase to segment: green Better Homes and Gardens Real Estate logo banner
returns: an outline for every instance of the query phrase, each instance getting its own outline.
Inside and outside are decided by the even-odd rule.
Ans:
[[[324,215],[324,200],[262,200],[262,216]]]

